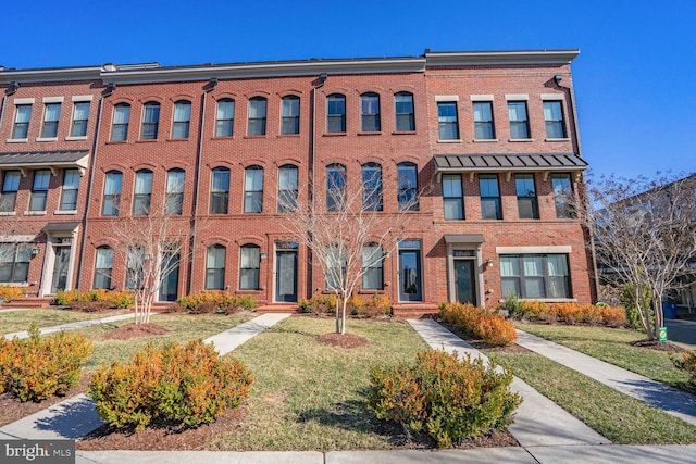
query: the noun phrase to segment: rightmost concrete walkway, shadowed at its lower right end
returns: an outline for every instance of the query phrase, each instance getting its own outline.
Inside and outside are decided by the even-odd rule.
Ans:
[[[520,347],[532,350],[614,390],[696,425],[696,398],[693,394],[525,331],[518,330],[517,333]],[[696,455],[694,461],[696,462]]]

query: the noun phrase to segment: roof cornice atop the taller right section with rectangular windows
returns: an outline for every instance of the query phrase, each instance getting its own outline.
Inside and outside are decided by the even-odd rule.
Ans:
[[[492,64],[568,64],[580,54],[580,49],[561,50],[500,50],[425,52],[426,65],[462,66]]]

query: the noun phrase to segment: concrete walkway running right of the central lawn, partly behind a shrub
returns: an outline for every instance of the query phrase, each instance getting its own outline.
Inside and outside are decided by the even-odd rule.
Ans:
[[[487,360],[469,343],[433,319],[409,319],[408,323],[433,349],[456,352],[459,356],[471,354]],[[610,443],[566,410],[514,378],[511,390],[524,401],[514,415],[508,431],[522,447],[582,446]]]

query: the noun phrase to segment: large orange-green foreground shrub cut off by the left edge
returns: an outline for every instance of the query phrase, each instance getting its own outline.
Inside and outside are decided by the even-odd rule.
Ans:
[[[79,333],[61,330],[41,338],[36,324],[29,326],[28,338],[0,337],[0,393],[36,402],[65,394],[77,385],[91,350]]]

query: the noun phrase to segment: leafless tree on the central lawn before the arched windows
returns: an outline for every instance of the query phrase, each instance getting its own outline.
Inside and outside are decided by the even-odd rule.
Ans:
[[[418,214],[414,178],[391,178],[398,185],[396,212],[383,211],[382,167],[363,166],[361,183],[347,183],[341,165],[327,168],[326,188],[316,186],[315,198],[298,196],[298,189],[282,187],[278,210],[285,212],[286,230],[312,253],[312,265],[321,268],[326,290],[337,296],[336,334],[346,331],[346,308],[363,279],[397,249]],[[281,179],[283,184],[283,179]],[[381,269],[380,269],[381,271]]]

